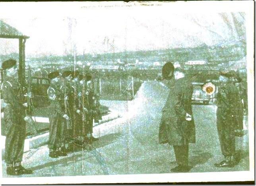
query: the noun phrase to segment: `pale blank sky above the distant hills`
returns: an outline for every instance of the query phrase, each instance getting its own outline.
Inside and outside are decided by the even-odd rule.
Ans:
[[[245,39],[245,14],[176,13],[163,8],[87,10],[79,16],[2,19],[30,38],[27,56],[121,52],[217,45]],[[1,18],[1,17],[0,17]],[[0,39],[0,52],[18,51],[17,39]]]

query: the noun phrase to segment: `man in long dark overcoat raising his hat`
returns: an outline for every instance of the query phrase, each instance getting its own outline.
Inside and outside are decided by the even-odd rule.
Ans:
[[[164,67],[172,68],[171,65]],[[165,75],[163,78],[171,81],[173,70],[169,70],[169,72],[170,75]],[[159,143],[173,145],[178,166],[171,169],[171,171],[188,172],[190,171],[188,166],[188,144],[196,141],[191,105],[193,85],[190,79],[185,77],[185,72],[181,68],[174,70],[174,77],[174,86],[168,86],[167,84],[167,87],[171,88],[171,90],[163,108],[159,126]]]

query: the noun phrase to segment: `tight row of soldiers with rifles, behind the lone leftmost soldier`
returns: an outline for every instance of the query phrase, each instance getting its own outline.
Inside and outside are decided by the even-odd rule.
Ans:
[[[99,122],[98,95],[94,91],[92,76],[79,71],[58,71],[48,74],[51,79],[47,93],[50,99],[49,156],[66,156],[74,151],[72,139],[85,143],[96,141],[93,120]]]

